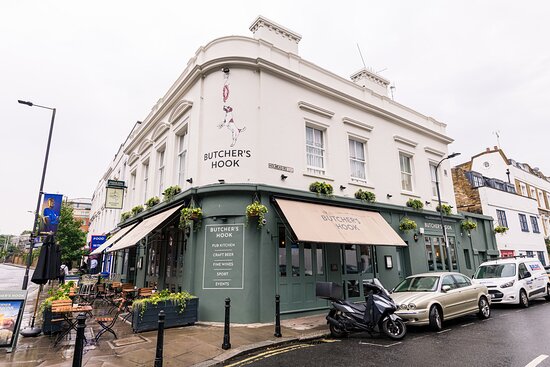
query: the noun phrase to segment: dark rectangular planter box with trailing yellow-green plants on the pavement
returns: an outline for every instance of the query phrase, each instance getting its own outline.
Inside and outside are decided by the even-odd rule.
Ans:
[[[158,314],[164,310],[164,327],[192,325],[198,320],[199,299],[189,292],[170,292],[165,289],[132,303],[134,333],[156,330]]]

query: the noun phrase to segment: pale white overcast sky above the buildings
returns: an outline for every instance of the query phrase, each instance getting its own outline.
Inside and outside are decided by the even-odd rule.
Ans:
[[[300,56],[349,78],[363,64],[399,103],[446,123],[453,164],[486,147],[550,176],[547,1],[2,1],[0,233],[32,226],[44,185],[93,194],[126,139],[201,45],[251,36],[263,15],[300,35]]]

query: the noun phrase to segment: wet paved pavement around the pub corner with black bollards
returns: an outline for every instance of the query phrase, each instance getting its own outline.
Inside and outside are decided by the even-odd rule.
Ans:
[[[26,317],[22,329],[30,322],[34,310],[36,290],[29,292]],[[42,292],[40,298],[46,296]],[[233,357],[297,340],[316,339],[329,334],[326,312],[281,321],[282,337],[275,337],[275,326],[268,324],[231,324],[228,350],[224,342],[223,323],[198,322],[191,326],[165,329],[163,366],[215,366],[223,365]],[[40,324],[37,319],[37,324]],[[117,320],[114,330],[118,339],[104,334],[98,343],[93,337],[100,330],[94,319],[86,321],[85,336],[90,342],[84,348],[82,366],[130,367],[153,366],[156,353],[157,331],[134,334],[129,322]],[[76,334],[54,346],[55,336],[19,337],[16,350],[0,354],[0,366],[45,367],[72,366]],[[2,353],[2,351],[0,351]]]

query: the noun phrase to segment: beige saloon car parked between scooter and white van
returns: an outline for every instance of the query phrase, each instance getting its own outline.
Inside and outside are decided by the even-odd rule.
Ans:
[[[391,297],[399,307],[396,315],[409,325],[429,325],[435,331],[443,328],[444,320],[473,313],[480,319],[491,316],[487,287],[460,273],[409,276],[392,290]]]

